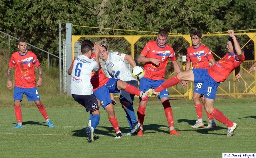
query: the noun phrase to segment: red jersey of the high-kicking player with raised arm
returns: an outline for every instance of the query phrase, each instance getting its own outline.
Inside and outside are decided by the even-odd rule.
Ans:
[[[224,82],[243,61],[244,54],[242,54],[242,59],[237,59],[236,53],[227,53],[208,69],[208,73],[216,82]]]

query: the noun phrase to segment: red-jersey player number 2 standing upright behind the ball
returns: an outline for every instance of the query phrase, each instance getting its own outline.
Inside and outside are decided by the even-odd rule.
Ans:
[[[157,35],[156,41],[149,41],[146,43],[144,49],[138,57],[138,61],[144,64],[145,75],[140,79],[141,91],[145,91],[150,88],[156,88],[164,82],[164,74],[166,71],[166,66],[168,60],[172,60],[174,70],[179,73],[181,71],[175,57],[174,50],[166,41],[168,39],[168,32],[166,30],[160,30]],[[182,81],[182,85],[186,85],[186,81]],[[158,98],[162,102],[164,107],[164,112],[166,115],[167,122],[170,127],[170,134],[180,134],[174,129],[174,121],[172,114],[172,107],[169,102],[169,93],[167,89],[163,89],[160,92]],[[140,105],[138,107],[137,115],[138,122],[140,122],[140,130],[138,131],[138,136],[143,135],[143,122],[146,113],[147,101],[142,101],[140,99]]]

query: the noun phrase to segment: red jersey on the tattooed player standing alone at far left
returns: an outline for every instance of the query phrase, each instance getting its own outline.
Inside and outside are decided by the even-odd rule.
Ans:
[[[36,87],[36,73],[34,65],[40,65],[35,53],[26,51],[26,54],[21,55],[20,51],[16,51],[12,54],[9,67],[15,67],[15,86],[21,88]]]

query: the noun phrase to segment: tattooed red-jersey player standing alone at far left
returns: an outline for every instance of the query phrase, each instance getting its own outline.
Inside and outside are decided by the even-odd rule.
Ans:
[[[46,109],[40,101],[39,93],[36,88],[42,85],[42,66],[40,65],[36,55],[26,50],[27,43],[25,39],[18,40],[19,51],[12,54],[7,69],[7,87],[12,89],[12,81],[10,81],[10,75],[12,68],[15,67],[15,85],[14,85],[14,113],[18,124],[13,128],[22,128],[22,114],[20,109],[20,102],[22,101],[23,94],[25,93],[28,101],[34,101],[38,107],[40,113],[44,116],[46,123],[49,127],[54,127],[54,124],[48,118]],[[35,67],[38,68],[39,79],[36,85]]]

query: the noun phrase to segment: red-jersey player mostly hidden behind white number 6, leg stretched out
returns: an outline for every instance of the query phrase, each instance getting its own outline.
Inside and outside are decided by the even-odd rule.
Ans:
[[[95,47],[98,43],[96,42],[95,45],[93,45],[92,41],[90,40],[84,40],[82,43],[87,43],[89,45],[92,45]],[[95,56],[95,53],[92,54],[91,59],[97,59],[99,56]],[[75,60],[75,59],[74,59]],[[68,74],[71,74],[73,69],[73,63],[68,69]],[[150,95],[152,95],[152,89],[148,89],[148,91],[142,92],[138,90],[137,87],[134,87],[122,80],[119,79],[112,79],[106,77],[104,71],[101,68],[100,63],[99,64],[99,71],[93,72],[91,76],[91,83],[93,87],[93,92],[96,96],[96,98],[100,101],[100,105],[106,110],[108,113],[108,120],[112,124],[114,130],[116,131],[116,137],[115,138],[121,138],[122,133],[119,128],[118,120],[115,115],[114,106],[113,106],[113,99],[110,98],[110,93],[120,93],[121,89],[125,89],[128,93],[133,95],[138,95],[139,97],[142,97],[142,99],[147,100]],[[150,91],[149,91],[150,90]],[[90,118],[92,115],[90,115]],[[89,124],[90,126],[90,119]]]

